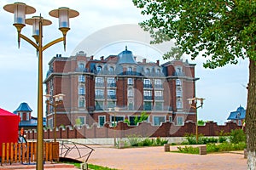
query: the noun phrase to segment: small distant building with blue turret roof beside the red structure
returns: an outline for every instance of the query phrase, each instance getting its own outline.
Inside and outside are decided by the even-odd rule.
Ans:
[[[14,113],[20,116],[19,128],[36,129],[38,127],[38,118],[32,116],[32,109],[27,105],[27,103],[21,103]],[[43,126],[45,127],[45,125],[46,119],[44,118]]]

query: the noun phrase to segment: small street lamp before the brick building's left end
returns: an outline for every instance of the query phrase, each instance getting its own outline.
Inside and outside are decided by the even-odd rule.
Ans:
[[[58,105],[63,104],[63,97],[65,96],[65,94],[56,94],[54,96],[51,96],[50,94],[45,94],[44,96],[46,98],[46,103],[48,105],[53,106],[53,108],[54,108],[54,142],[56,142],[56,127],[57,127],[56,107]],[[54,98],[53,101],[50,101],[51,97]]]

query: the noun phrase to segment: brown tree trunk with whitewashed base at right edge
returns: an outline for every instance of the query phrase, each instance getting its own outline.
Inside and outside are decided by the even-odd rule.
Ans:
[[[247,93],[247,169],[256,169],[256,62],[250,59]]]

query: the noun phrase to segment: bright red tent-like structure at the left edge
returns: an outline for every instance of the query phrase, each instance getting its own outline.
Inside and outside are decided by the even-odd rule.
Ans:
[[[0,108],[0,156],[3,143],[17,142],[19,122],[19,116]]]

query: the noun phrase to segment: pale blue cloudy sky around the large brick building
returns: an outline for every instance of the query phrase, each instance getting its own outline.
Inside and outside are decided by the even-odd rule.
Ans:
[[[12,26],[14,14],[3,9],[5,4],[16,2],[16,0],[0,1],[0,108],[13,112],[20,103],[26,102],[33,110],[32,116],[37,116],[38,58],[36,50],[23,40],[20,41],[20,48],[18,48],[16,29]],[[119,32],[115,32],[118,26],[130,28],[129,26],[132,27],[147,19],[146,16],[140,14],[140,10],[133,5],[131,0],[20,0],[19,2],[37,9],[35,14],[29,14],[26,18],[41,14],[45,19],[53,22],[50,26],[44,26],[44,44],[61,37],[58,20],[49,16],[50,10],[68,7],[79,11],[79,16],[70,20],[71,30],[67,32],[66,51],[63,49],[62,42],[44,51],[44,78],[48,71],[48,62],[55,54],[69,57],[78,52],[81,44],[88,44],[91,40],[98,42],[96,47],[99,48],[82,50],[88,55],[94,55],[95,59],[99,59],[102,55],[107,57],[110,54],[119,54],[127,45],[128,49],[137,56],[154,62],[160,59],[160,64],[168,61],[161,59],[162,48],[143,41],[146,37],[143,40],[136,39],[136,36],[131,33],[125,34],[128,37],[135,37],[135,39],[131,38],[131,41],[127,37],[119,37],[123,38],[119,40],[111,39],[113,34],[118,35],[119,32],[125,31],[120,29]],[[106,35],[101,33],[106,33],[109,29],[112,31],[110,36],[101,37],[101,35]],[[31,37],[32,26],[25,26],[21,33],[26,37]],[[105,40],[108,41],[104,42]],[[168,44],[164,45],[170,47]],[[226,65],[214,70],[203,68],[202,64],[205,59],[202,57],[191,60],[189,55],[184,54],[183,59],[189,59],[189,63],[196,64],[195,77],[200,78],[196,82],[196,96],[206,99],[203,107],[198,110],[199,120],[224,124],[227,122],[230,111],[236,111],[240,105],[246,108],[247,59],[239,60],[237,65]]]

